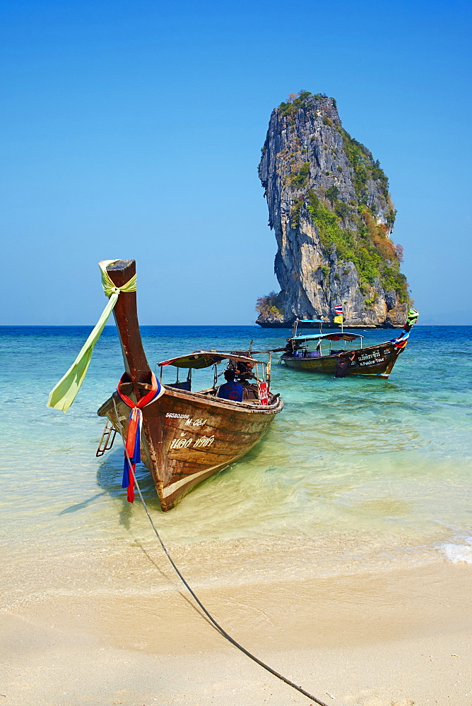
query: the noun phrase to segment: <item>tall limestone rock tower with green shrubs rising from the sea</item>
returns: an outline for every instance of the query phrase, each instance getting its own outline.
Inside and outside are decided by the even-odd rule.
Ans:
[[[273,111],[259,177],[281,292],[259,299],[257,323],[332,323],[343,304],[347,326],[402,325],[411,302],[388,180],[341,126],[334,98],[304,91]]]

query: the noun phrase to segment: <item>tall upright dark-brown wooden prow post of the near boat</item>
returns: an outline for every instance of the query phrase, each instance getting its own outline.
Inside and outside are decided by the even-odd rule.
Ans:
[[[136,273],[136,261],[118,260],[107,267],[107,273],[116,287],[122,287]],[[133,383],[136,399],[139,400],[146,390],[138,388],[137,383],[151,383],[151,368],[139,331],[136,292],[121,292],[113,313],[122,343],[124,366]]]

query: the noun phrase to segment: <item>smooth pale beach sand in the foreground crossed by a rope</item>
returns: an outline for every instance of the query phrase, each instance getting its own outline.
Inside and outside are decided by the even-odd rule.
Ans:
[[[148,561],[148,558],[146,558]],[[309,704],[201,616],[165,566],[158,594],[23,597],[0,612],[0,704]],[[222,626],[326,704],[472,703],[472,566],[200,587]]]

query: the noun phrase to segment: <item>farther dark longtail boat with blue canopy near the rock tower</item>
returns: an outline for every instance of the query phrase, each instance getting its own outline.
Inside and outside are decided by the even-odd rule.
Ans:
[[[362,336],[357,333],[340,331],[338,333],[316,333],[297,335],[297,325],[303,323],[296,321],[292,337],[287,339],[285,348],[276,349],[283,351],[280,362],[288,368],[302,370],[308,373],[325,373],[335,375],[339,357],[343,354],[352,356],[352,364],[348,367],[347,375],[377,376],[388,378],[396,359],[405,349],[410,335],[411,327],[418,318],[418,311],[410,309],[408,319],[403,331],[394,340],[379,343],[378,345],[362,347]],[[312,323],[311,321],[309,323]],[[346,342],[360,341],[360,347],[346,349]],[[344,342],[345,349],[332,349],[334,342]],[[328,349],[324,349],[328,344]]]

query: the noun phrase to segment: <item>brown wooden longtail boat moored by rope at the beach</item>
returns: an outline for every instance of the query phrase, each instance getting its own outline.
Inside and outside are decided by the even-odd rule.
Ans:
[[[120,260],[107,267],[116,287],[122,287],[135,272],[134,260]],[[132,400],[140,400],[151,388],[153,373],[141,342],[136,292],[119,295],[114,317],[126,369],[121,390]],[[194,352],[160,364],[161,374],[167,365],[177,367],[177,371],[182,367],[189,369],[187,382],[163,385],[163,394],[142,409],[141,459],[151,472],[163,510],[175,507],[196,484],[244,456],[281,412],[283,402],[270,392],[270,352],[268,364],[253,359],[253,353]],[[216,375],[212,388],[191,391],[191,369],[222,361],[227,361],[232,369],[238,363],[249,371],[258,371],[261,366],[261,376],[258,372],[247,375],[255,383],[249,388],[252,399],[233,402],[217,397]],[[114,431],[126,437],[129,411],[129,406],[114,393],[98,414],[107,417]]]

